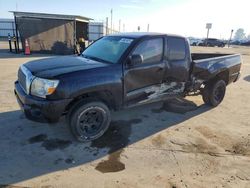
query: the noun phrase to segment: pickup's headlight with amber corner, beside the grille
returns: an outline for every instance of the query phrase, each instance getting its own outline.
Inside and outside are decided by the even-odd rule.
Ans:
[[[46,98],[56,90],[59,80],[47,80],[43,78],[35,78],[31,84],[31,95]]]

